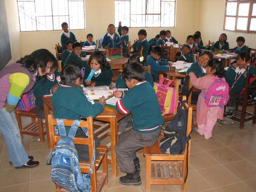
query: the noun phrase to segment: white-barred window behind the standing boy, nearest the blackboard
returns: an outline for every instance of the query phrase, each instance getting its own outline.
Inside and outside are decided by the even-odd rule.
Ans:
[[[84,29],[84,0],[17,0],[20,31]]]

